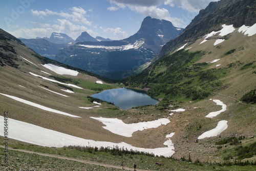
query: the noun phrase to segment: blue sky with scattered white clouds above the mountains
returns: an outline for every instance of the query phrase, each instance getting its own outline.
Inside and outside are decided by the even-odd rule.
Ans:
[[[185,28],[211,1],[218,0],[0,0],[0,28],[16,37],[87,31],[113,40],[135,34],[146,16]]]

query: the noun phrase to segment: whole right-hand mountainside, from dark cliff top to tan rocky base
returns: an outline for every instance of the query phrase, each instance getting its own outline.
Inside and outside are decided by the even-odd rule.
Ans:
[[[253,10],[255,1],[210,3],[181,35],[163,47],[151,65],[124,81],[126,86],[146,90],[161,99],[157,108],[172,114],[170,118],[176,125],[172,129],[179,134],[174,142],[179,148],[176,157],[187,156],[190,151],[205,160],[210,160],[207,156],[211,153],[221,154],[225,160],[236,158],[232,143],[218,150],[212,144],[222,138],[256,134]],[[214,102],[222,108],[212,109]],[[184,110],[174,111],[177,108]],[[216,112],[210,113],[210,109]],[[217,111],[218,115],[208,118]],[[224,131],[212,136],[220,121],[226,122],[222,125]],[[212,138],[199,138],[205,134]]]

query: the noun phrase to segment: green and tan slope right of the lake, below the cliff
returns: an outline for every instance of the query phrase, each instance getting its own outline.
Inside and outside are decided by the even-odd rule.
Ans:
[[[149,94],[162,99],[157,107],[162,111],[161,115],[168,116],[170,109],[186,109],[185,112],[170,116],[173,126],[166,126],[168,130],[176,132],[172,139],[178,151],[174,155],[177,158],[191,151],[202,160],[211,160],[212,157],[209,155],[216,151],[208,148],[208,145],[197,146],[193,142],[203,132],[213,129],[220,120],[228,121],[228,128],[221,134],[222,137],[252,136],[256,133],[255,104],[240,102],[244,94],[255,89],[253,46],[256,36],[244,36],[236,30],[228,37],[217,46],[213,46],[217,36],[199,45],[202,38],[185,47],[185,49],[192,47],[188,52],[171,52],[138,76],[126,80],[130,86],[150,88]],[[236,51],[226,55],[232,49]],[[193,55],[182,65],[179,62],[176,63],[181,58],[184,62],[191,54],[199,55]],[[214,59],[220,60],[215,63],[204,63]],[[252,64],[244,67],[247,63]],[[216,67],[217,65],[220,66]],[[180,80],[174,81],[175,77]],[[199,98],[193,99],[195,96]],[[223,101],[227,105],[227,111],[212,119],[204,118],[209,112],[221,109],[216,103],[209,101],[209,98]],[[169,107],[170,104],[174,107]],[[195,107],[197,109],[194,109]],[[200,124],[202,129],[199,130]],[[215,138],[210,139],[215,141]],[[198,149],[201,150],[198,152]]]

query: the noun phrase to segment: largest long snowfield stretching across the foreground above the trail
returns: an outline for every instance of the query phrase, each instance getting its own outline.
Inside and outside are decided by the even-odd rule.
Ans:
[[[0,116],[1,123],[4,123],[4,117]],[[28,142],[32,144],[37,144],[41,146],[49,146],[49,147],[63,147],[68,145],[80,145],[87,146],[90,144],[92,147],[110,147],[110,146],[118,146],[119,148],[127,148],[133,149],[133,151],[154,153],[158,156],[170,157],[173,155],[173,147],[162,147],[162,148],[139,148],[134,147],[125,142],[113,143],[107,141],[94,141],[83,139],[75,136],[71,136],[68,134],[63,134],[57,131],[45,129],[44,127],[40,127],[37,125],[33,125],[30,123],[18,121],[9,118],[8,122],[10,123],[10,130],[8,134],[8,138],[12,138],[15,140]],[[24,131],[26,130],[26,131]],[[0,135],[4,136],[4,129],[0,129]]]

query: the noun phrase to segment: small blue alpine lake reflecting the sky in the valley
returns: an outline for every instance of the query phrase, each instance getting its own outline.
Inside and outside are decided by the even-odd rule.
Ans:
[[[128,110],[140,105],[155,105],[158,100],[148,96],[144,91],[134,89],[111,89],[92,95],[104,101],[114,103],[122,110]]]

